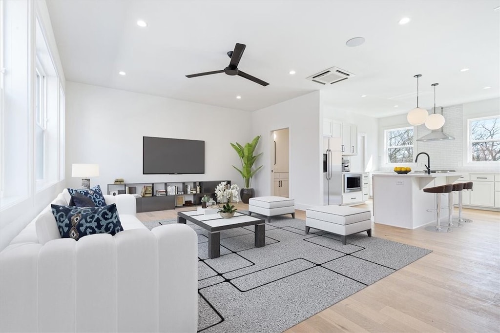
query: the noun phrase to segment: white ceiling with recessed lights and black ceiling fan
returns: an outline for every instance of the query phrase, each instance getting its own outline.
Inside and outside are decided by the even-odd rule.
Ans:
[[[248,111],[321,89],[328,105],[374,117],[416,106],[415,74],[421,107],[432,107],[434,82],[437,106],[500,96],[500,0],[47,5],[68,81]],[[404,16],[410,22],[399,25]],[[365,43],[345,45],[357,36]],[[246,44],[238,68],[268,86],[224,73],[184,76],[223,69],[236,42]],[[332,66],[355,76],[328,86],[305,79]]]

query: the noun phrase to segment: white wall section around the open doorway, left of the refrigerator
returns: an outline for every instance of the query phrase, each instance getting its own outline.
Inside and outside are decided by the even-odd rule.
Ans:
[[[288,128],[289,197],[295,200],[296,209],[322,205],[319,91],[254,111],[251,123],[253,136],[262,135],[258,152],[264,152],[257,160],[257,165],[262,164],[263,168],[252,179],[256,196],[272,193],[272,131]]]

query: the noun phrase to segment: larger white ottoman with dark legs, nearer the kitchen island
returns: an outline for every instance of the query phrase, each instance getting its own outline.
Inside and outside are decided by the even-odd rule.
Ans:
[[[305,232],[309,228],[339,235],[342,244],[346,236],[366,231],[371,237],[371,211],[347,206],[320,206],[305,210]]]

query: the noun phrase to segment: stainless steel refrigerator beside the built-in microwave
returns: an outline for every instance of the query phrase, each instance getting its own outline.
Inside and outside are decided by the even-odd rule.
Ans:
[[[323,137],[323,205],[342,203],[341,138]]]

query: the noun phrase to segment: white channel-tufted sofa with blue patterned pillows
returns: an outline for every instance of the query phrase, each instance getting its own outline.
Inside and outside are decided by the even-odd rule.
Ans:
[[[48,205],[0,252],[0,332],[196,332],[196,233],[149,231],[132,195],[104,198],[116,235],[60,238]]]

